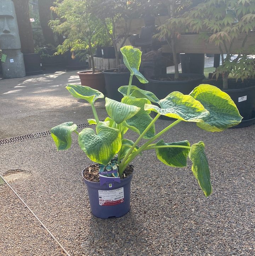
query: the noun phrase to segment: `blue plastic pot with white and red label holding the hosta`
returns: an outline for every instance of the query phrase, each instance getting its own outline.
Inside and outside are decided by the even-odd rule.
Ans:
[[[87,185],[92,214],[98,218],[108,219],[109,217],[118,218],[128,213],[130,211],[132,178],[133,173],[129,177],[121,179],[120,183],[114,181],[101,186],[100,182],[88,181],[83,176],[83,182]]]

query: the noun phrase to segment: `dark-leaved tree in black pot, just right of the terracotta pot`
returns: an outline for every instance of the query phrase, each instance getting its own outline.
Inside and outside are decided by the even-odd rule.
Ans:
[[[123,85],[128,85],[129,82],[129,71],[124,71],[121,68],[120,48],[125,45],[130,36],[132,20],[140,15],[139,4],[140,2],[138,1],[98,0],[99,8],[97,7],[94,10],[97,17],[101,19],[112,43],[112,46],[108,47],[108,49],[102,48],[102,57],[108,58],[107,56],[110,56],[107,50],[112,51],[112,54],[114,54],[116,68],[103,70],[103,74],[106,82],[106,93],[108,97],[115,100],[120,100],[122,96],[118,92],[119,79],[123,81]],[[135,82],[136,85],[141,85],[138,80],[135,80]]]

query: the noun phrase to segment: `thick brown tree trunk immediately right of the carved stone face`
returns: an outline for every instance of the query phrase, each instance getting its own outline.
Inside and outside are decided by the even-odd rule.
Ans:
[[[29,17],[29,0],[12,0],[17,16],[22,53],[34,53],[32,26]]]

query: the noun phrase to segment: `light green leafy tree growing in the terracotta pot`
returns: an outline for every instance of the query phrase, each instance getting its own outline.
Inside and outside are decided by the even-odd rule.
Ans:
[[[100,37],[105,37],[104,26],[92,12],[96,2],[92,0],[58,2],[52,10],[58,17],[50,21],[50,26],[57,33],[67,34],[67,38],[62,45],[59,45],[58,53],[63,53],[70,49],[72,57],[74,53],[86,50],[91,56],[92,71],[79,71],[78,75],[81,85],[90,86],[104,92],[104,76],[101,71],[95,69],[93,54],[96,41]]]

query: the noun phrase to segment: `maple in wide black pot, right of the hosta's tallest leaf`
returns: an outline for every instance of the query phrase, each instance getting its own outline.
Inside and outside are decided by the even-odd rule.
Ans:
[[[168,10],[168,19],[158,27],[158,33],[154,38],[166,42],[171,48],[174,74],[165,74],[163,77],[148,77],[148,89],[158,97],[165,97],[172,91],[180,91],[184,94],[189,93],[194,87],[202,83],[203,73],[180,73],[179,72],[179,52],[176,51],[179,37],[187,32],[185,18],[182,16],[196,1],[176,1],[164,0],[162,4]]]

